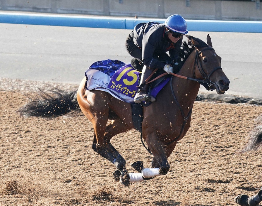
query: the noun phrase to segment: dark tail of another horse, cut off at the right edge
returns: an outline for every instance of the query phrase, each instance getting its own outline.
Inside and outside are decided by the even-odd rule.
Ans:
[[[258,116],[256,123],[249,133],[248,142],[240,152],[256,151],[262,147],[262,115]]]

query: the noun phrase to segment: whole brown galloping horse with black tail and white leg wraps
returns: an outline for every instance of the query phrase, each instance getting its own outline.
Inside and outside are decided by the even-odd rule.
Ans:
[[[150,168],[144,168],[142,161],[136,161],[132,167],[138,173],[128,173],[125,159],[110,143],[115,135],[135,128],[131,103],[119,101],[105,91],[87,90],[86,78],[83,78],[77,91],[54,91],[57,97],[45,95],[42,91],[38,97],[44,99],[31,99],[18,112],[24,116],[55,118],[81,110],[93,124],[92,149],[116,167],[113,173],[115,181],[128,186],[133,182],[166,175],[170,168],[167,158],[189,129],[200,83],[212,82],[218,94],[224,94],[230,83],[222,71],[221,57],[215,52],[209,34],[207,43],[193,36],[186,38],[188,43],[185,45],[191,49],[181,57],[181,69],[176,74],[170,73],[172,77],[157,94],[155,102],[143,105],[141,139],[153,154]]]

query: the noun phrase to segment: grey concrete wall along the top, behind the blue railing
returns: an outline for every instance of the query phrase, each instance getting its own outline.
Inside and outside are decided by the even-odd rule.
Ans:
[[[260,0],[0,0],[0,11],[71,13],[102,16],[262,21]]]

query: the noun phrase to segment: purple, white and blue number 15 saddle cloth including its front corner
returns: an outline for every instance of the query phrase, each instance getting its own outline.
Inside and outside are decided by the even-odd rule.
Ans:
[[[101,90],[109,92],[113,97],[124,101],[133,102],[138,91],[139,75],[131,64],[125,64],[119,60],[103,60],[93,63],[85,72],[86,90]],[[151,90],[151,96],[157,93],[169,81],[165,79],[157,87]]]

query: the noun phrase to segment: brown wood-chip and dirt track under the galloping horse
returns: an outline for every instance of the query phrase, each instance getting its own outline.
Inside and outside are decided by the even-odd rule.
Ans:
[[[13,89],[12,89],[13,90]],[[92,148],[84,117],[24,118],[19,88],[0,87],[0,205],[237,205],[234,197],[261,187],[261,151],[239,154],[262,106],[195,102],[191,128],[169,157],[169,173],[124,187],[115,167]],[[131,130],[112,139],[130,164],[152,156]]]

